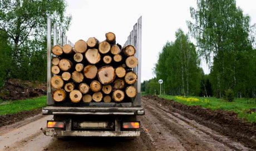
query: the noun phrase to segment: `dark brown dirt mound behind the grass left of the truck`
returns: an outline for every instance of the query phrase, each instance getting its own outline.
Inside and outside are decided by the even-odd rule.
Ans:
[[[26,99],[45,95],[46,92],[46,83],[29,82],[19,79],[9,79],[0,90],[0,99]]]

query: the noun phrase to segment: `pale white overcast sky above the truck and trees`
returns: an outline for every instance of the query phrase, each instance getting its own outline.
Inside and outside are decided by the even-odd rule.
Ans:
[[[123,45],[137,19],[142,16],[142,75],[141,81],[154,75],[152,68],[157,56],[167,41],[175,40],[178,28],[188,32],[186,21],[191,20],[190,7],[196,0],[67,0],[67,14],[72,15],[72,23],[67,37],[75,43],[78,39],[87,41],[89,37],[105,40],[105,33],[114,32],[116,41]],[[256,1],[237,0],[237,6],[249,14],[256,23]],[[202,62],[205,73],[208,66]]]

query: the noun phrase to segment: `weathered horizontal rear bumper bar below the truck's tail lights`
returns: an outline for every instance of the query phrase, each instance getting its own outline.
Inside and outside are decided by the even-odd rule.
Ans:
[[[43,133],[53,137],[139,137],[140,131],[82,131],[45,129]]]

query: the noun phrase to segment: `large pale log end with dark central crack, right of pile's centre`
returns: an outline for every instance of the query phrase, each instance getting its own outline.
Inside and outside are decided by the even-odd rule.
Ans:
[[[115,79],[115,69],[111,66],[101,67],[98,70],[98,78],[102,84],[109,84]]]

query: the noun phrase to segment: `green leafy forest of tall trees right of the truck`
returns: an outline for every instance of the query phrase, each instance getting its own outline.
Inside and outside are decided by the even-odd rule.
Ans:
[[[235,0],[197,0],[190,8],[189,33],[176,31],[158,56],[154,78],[142,82],[142,91],[169,95],[253,98],[256,88],[255,24]],[[195,40],[193,44],[191,39]],[[206,59],[210,73],[200,67]]]

